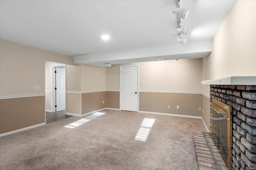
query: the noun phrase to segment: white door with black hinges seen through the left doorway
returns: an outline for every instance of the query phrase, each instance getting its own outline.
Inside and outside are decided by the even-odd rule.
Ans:
[[[66,88],[65,68],[56,67],[56,111],[65,110]]]

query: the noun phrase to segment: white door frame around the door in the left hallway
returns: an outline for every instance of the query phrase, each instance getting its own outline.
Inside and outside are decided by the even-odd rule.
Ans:
[[[51,112],[55,112],[55,105],[56,105],[56,94],[55,94],[55,87],[56,87],[56,82],[55,82],[55,68],[56,67],[62,67],[65,68],[65,80],[64,80],[64,84],[65,84],[65,110],[66,110],[66,64],[56,64],[56,65],[51,65]]]

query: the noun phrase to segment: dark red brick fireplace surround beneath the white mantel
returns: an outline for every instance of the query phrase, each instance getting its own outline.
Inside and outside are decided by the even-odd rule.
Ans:
[[[212,99],[232,106],[232,169],[256,170],[256,86],[210,85],[210,133]]]

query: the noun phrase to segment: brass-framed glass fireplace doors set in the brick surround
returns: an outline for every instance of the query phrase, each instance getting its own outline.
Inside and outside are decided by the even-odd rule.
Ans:
[[[212,139],[228,170],[232,169],[232,107],[212,99]]]

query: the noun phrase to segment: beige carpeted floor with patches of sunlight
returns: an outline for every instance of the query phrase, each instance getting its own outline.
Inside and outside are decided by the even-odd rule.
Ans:
[[[196,170],[192,130],[201,119],[104,110],[1,137],[0,169]]]

